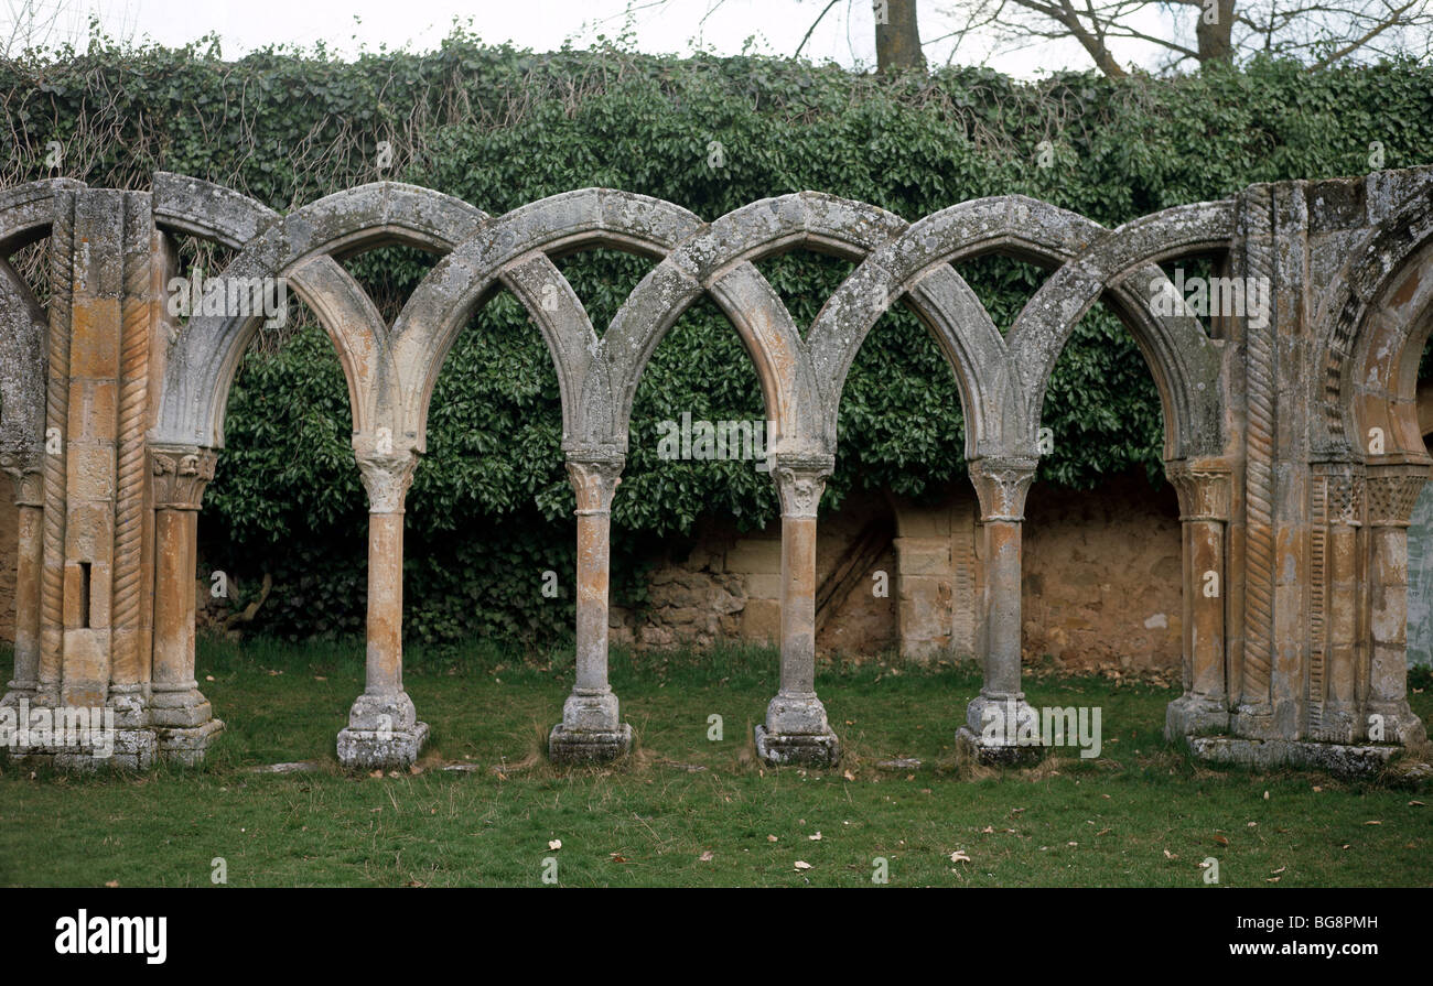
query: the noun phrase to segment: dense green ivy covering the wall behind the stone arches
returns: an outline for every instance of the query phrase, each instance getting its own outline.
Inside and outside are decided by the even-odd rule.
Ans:
[[[0,119],[6,182],[69,175],[146,188],[166,169],[278,209],[396,179],[493,214],[592,185],[655,195],[704,218],[802,189],[907,219],[1022,192],[1116,225],[1254,182],[1429,163],[1433,69],[1315,75],[1261,63],[1169,80],[1062,75],[1026,85],[982,69],[877,79],[757,57],[533,54],[461,33],[430,54],[354,63],[322,52],[225,62],[202,44],[97,43],[56,62],[0,64]],[[224,259],[222,251],[188,255],[211,269]],[[387,248],[350,269],[391,318],[433,262]],[[651,262],[595,251],[560,267],[600,330]],[[805,252],[761,267],[798,324],[850,269]],[[962,274],[1002,327],[1042,277],[1005,258]],[[557,401],[536,330],[499,295],[440,380],[408,499],[411,639],[539,643],[569,633],[573,500]],[[658,459],[658,423],[682,413],[764,417],[738,337],[711,304],[663,341],[638,394],[613,509],[623,605],[643,599],[641,559],[653,540],[689,536],[701,514],[759,526],[777,513],[770,479],[749,463]],[[1062,357],[1043,424],[1055,449],[1042,479],[1091,487],[1144,470],[1164,482],[1154,384],[1103,310]],[[244,590],[235,603],[261,573],[274,576],[259,632],[363,631],[367,516],[348,433],[337,358],[312,317],[295,311],[288,328],[261,337],[239,373],[201,523],[205,562]],[[854,487],[919,497],[964,474],[953,377],[904,311],[886,317],[857,360],[841,449],[828,506]],[[555,599],[542,593],[546,570],[559,576]]]

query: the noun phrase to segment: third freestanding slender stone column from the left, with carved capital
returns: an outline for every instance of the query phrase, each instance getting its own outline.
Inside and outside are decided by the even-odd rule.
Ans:
[[[815,697],[815,516],[831,476],[830,456],[775,457],[781,497],[781,688],[757,727],[768,764],[830,767],[841,744]]]

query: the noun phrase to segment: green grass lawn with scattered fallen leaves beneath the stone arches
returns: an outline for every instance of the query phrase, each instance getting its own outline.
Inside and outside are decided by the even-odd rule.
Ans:
[[[201,770],[66,777],[4,762],[0,884],[211,886],[216,857],[229,886],[542,886],[556,858],[563,886],[857,887],[884,858],[891,886],[1204,887],[1207,857],[1219,886],[1433,884],[1433,808],[1417,803],[1433,798],[1195,765],[1161,735],[1175,692],[1148,684],[1032,676],[1035,705],[1103,709],[1102,757],[1065,750],[972,778],[952,757],[979,688],[969,665],[827,664],[817,686],[843,762],[770,770],[751,728],[775,692],[774,652],[615,654],[639,750],[557,770],[542,750],[570,654],[414,654],[407,688],[433,727],[423,761],[345,777],[334,737],[361,691],[361,654],[201,642],[201,686],[228,724]],[[1427,675],[1413,684],[1414,711],[1433,721]],[[921,764],[877,767],[897,757]],[[301,760],[320,768],[251,770]]]

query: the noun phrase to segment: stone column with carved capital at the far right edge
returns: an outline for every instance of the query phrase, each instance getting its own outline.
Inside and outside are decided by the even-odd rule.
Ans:
[[[1367,735],[1383,742],[1427,741],[1409,708],[1409,519],[1426,461],[1369,464],[1369,662]]]

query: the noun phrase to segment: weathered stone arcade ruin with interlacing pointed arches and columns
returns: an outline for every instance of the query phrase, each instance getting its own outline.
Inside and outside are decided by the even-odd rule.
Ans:
[[[181,235],[235,251],[229,284],[282,279],[342,363],[370,506],[367,684],[338,734],[348,768],[411,764],[427,734],[403,686],[404,497],[444,357],[497,287],[552,354],[577,502],[576,681],[553,760],[612,760],[632,744],[608,682],[609,510],[642,370],[704,292],[739,332],[777,431],[781,684],[755,738],[768,762],[838,757],[815,689],[817,504],[845,375],[897,302],[956,374],[980,504],[984,685],[959,731],[967,752],[1017,752],[980,727],[989,708],[1027,708],[1025,494],[1050,371],[1096,301],[1123,320],[1158,384],[1179,496],[1184,694],[1169,704],[1168,738],[1212,761],[1353,772],[1426,752],[1406,698],[1406,529],[1433,461],[1414,403],[1433,328],[1433,168],[1255,185],[1116,229],[1019,195],[909,224],[815,192],[704,222],[610,189],[503,216],[393,182],[287,216],[169,173],[148,192],[67,179],[4,191],[0,257],[46,239],[52,284],[42,308],[0,262],[0,466],[20,530],[4,704],[112,711],[113,760],[132,768],[196,762],[222,728],[195,678],[195,533],[229,386],[264,318],[242,305],[172,315]],[[338,262],[388,244],[443,255],[393,325]],[[552,262],[598,247],[656,261],[600,337]],[[805,331],[754,265],[794,248],[856,264]],[[953,267],[990,252],[1050,271],[1003,334]],[[1212,258],[1219,275],[1225,304],[1208,327],[1182,294],[1169,304],[1159,264],[1188,258]],[[1267,305],[1255,311],[1260,285]],[[43,744],[14,754],[99,761]]]

